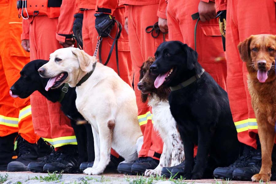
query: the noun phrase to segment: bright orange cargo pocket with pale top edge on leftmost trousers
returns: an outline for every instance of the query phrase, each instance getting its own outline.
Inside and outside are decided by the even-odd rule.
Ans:
[[[29,57],[29,53],[27,53],[21,46],[20,37],[22,33],[22,22],[9,22],[9,32],[10,32],[10,55]]]

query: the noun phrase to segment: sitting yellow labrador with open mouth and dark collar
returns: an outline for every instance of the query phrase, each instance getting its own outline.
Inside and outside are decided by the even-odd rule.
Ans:
[[[93,167],[83,171],[85,174],[103,173],[111,147],[125,158],[124,162],[137,159],[143,137],[134,90],[113,69],[83,50],[70,47],[51,53],[49,62],[38,72],[51,78],[46,90],[63,83],[77,86],[77,109],[92,125],[94,136],[95,161]]]

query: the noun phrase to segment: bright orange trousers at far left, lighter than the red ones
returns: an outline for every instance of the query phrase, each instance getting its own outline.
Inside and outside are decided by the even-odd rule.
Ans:
[[[22,138],[35,143],[39,137],[33,130],[30,98],[12,98],[10,87],[20,77],[29,53],[21,47],[22,19],[18,19],[16,1],[0,1],[0,136],[18,132]]]

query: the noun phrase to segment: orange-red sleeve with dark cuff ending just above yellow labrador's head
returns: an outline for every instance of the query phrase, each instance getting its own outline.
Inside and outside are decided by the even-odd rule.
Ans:
[[[66,39],[73,38],[74,13],[76,1],[63,0],[60,6],[59,23],[56,28],[56,39],[65,42]]]

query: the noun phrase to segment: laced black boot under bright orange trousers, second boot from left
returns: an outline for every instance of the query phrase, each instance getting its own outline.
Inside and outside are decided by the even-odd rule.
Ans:
[[[8,164],[8,171],[28,171],[27,165],[35,162],[38,157],[37,145],[24,140],[20,135],[17,138],[18,156]]]

